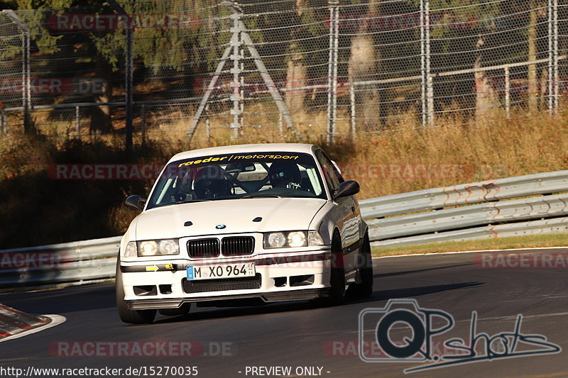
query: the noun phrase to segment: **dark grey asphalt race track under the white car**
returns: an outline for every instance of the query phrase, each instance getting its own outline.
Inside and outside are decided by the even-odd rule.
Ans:
[[[519,251],[531,256],[553,252],[568,254],[567,249]],[[246,374],[246,367],[290,366],[289,377],[297,377],[297,367],[322,367],[323,377],[403,377],[403,369],[420,364],[363,362],[353,348],[361,310],[383,308],[388,299],[408,298],[416,299],[422,308],[439,309],[453,316],[454,328],[437,335],[439,340],[469,340],[471,313],[477,311],[477,333],[513,332],[517,315],[522,314],[520,333],[544,335],[562,348],[557,354],[485,360],[413,372],[409,377],[568,377],[567,268],[486,268],[476,264],[479,258],[479,253],[464,253],[374,260],[373,296],[344,306],[317,308],[306,302],[289,302],[254,308],[193,307],[189,316],[159,316],[155,323],[143,326],[119,321],[113,284],[3,294],[0,302],[8,306],[28,313],[60,314],[67,321],[0,343],[0,367],[196,366],[197,377],[230,378],[253,377]],[[366,335],[372,335],[375,326],[366,323]],[[393,340],[412,335],[400,323],[391,330]],[[102,352],[107,353],[104,356],[59,357],[53,346],[72,341],[155,340],[196,342],[204,346],[207,355],[116,357],[108,356],[107,350]],[[225,343],[224,355],[219,355],[218,343]],[[526,349],[539,348],[525,345]],[[152,375],[148,372],[147,376]]]

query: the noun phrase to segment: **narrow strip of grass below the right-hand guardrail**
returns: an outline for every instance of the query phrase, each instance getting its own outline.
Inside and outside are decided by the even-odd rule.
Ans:
[[[373,248],[373,257],[413,255],[418,253],[461,252],[468,250],[511,250],[517,248],[545,248],[568,246],[567,233],[511,236],[459,242],[442,242],[403,247]]]

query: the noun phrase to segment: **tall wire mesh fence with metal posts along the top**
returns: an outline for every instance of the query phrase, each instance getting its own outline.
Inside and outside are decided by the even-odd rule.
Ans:
[[[0,14],[4,132],[332,140],[552,112],[566,91],[559,0],[109,4]]]

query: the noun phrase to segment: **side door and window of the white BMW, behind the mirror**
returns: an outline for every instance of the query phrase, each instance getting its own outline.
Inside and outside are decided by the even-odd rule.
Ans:
[[[333,194],[337,187],[339,187],[339,184],[344,182],[344,179],[332,160],[330,160],[322,150],[316,152],[316,157],[322,166],[324,180],[329,188],[329,192]],[[331,216],[334,218],[342,238],[343,262],[345,272],[348,273],[347,278],[349,279],[349,276],[354,274],[357,264],[358,249],[356,246],[360,239],[359,229],[361,226],[361,217],[358,216],[359,209],[357,209],[357,204],[353,196],[343,197],[333,202],[334,209],[331,211]]]

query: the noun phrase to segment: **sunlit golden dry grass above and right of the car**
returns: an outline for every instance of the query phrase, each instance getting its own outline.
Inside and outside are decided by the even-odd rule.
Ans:
[[[274,125],[273,113],[249,118],[249,125]],[[274,118],[274,119],[273,119]],[[296,113],[297,138],[280,135],[278,127],[246,127],[234,138],[233,131],[214,128],[230,119],[214,119],[208,140],[200,123],[192,143],[185,142],[186,123],[168,125],[156,138],[172,153],[180,150],[241,143],[305,142],[321,145],[339,163],[344,176],[361,184],[360,198],[385,196],[432,187],[568,169],[568,112],[527,115],[522,109],[510,119],[499,111],[483,121],[459,116],[438,116],[435,128],[421,128],[415,116],[401,114],[388,121],[383,131],[349,137],[349,121],[340,114],[333,145],[325,141],[325,114]]]

